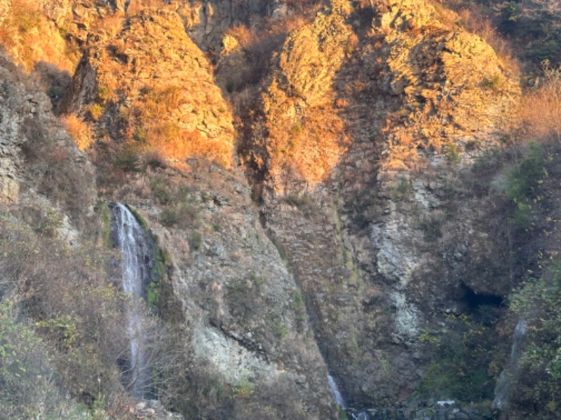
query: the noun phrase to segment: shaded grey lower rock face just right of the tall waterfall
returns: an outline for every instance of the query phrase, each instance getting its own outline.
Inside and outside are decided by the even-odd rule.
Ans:
[[[199,380],[217,376],[238,389],[243,396],[232,416],[332,418],[327,370],[302,295],[262,230],[243,176],[197,165],[196,172],[151,175],[149,187],[168,200],[140,199],[147,188],[140,180],[116,198],[133,204],[170,254],[169,299],[177,302],[170,308],[180,309],[168,313],[186,319],[182,337],[204,374]],[[175,222],[172,212],[180,216]]]

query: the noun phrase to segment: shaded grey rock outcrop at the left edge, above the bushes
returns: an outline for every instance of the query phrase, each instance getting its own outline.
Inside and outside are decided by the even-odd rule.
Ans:
[[[1,201],[42,203],[32,205],[81,225],[95,203],[93,167],[50,112],[46,94],[4,55],[0,60]]]

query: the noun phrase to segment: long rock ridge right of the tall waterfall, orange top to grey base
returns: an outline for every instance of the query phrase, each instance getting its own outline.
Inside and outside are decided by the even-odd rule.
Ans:
[[[114,38],[92,38],[60,109],[99,139],[104,193],[135,207],[165,249],[156,295],[189,360],[173,405],[203,418],[332,417],[302,295],[232,169],[231,113],[180,17],[145,9]],[[215,380],[222,391],[209,395]]]

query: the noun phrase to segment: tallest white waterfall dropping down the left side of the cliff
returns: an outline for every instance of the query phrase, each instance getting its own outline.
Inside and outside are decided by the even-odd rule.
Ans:
[[[142,295],[149,282],[151,246],[135,216],[123,204],[111,205],[111,242],[121,251],[121,279],[123,292],[129,295],[126,309],[126,330],[129,354],[126,359],[126,381],[134,398],[142,399],[149,386],[146,338],[142,323]]]

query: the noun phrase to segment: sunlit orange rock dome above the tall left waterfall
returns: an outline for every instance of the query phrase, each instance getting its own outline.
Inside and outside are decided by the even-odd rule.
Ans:
[[[229,106],[180,17],[150,10],[115,25],[114,37],[100,35],[81,59],[62,110],[89,118],[98,133],[139,152],[231,165]]]

